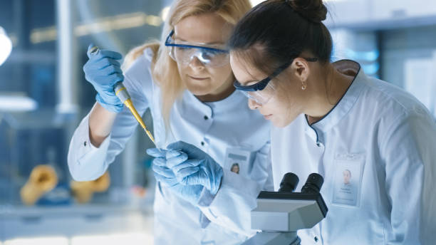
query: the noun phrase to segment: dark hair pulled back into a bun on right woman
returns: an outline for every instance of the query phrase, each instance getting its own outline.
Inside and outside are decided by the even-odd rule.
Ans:
[[[326,14],[322,0],[264,1],[235,26],[229,48],[264,73],[272,73],[303,51],[327,63],[332,41],[321,23]]]

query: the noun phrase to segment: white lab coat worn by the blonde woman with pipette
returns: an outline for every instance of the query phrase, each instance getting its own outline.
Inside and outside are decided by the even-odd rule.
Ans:
[[[165,137],[160,105],[161,93],[150,72],[152,52],[146,50],[125,72],[124,85],[138,113],[150,108],[155,140],[160,147],[183,140],[207,152],[224,168],[222,185],[213,198],[203,194],[201,206],[172,194],[157,184],[155,193],[155,244],[240,244],[255,231],[250,228],[250,210],[261,189],[272,189],[270,125],[248,108],[245,96],[235,91],[228,98],[202,103],[185,91],[172,107],[171,131]],[[100,177],[124,148],[137,122],[126,108],[117,115],[110,135],[96,148],[90,144],[88,116],[71,139],[68,167],[73,179]],[[251,152],[253,161],[245,172],[234,174],[224,166],[227,148]],[[206,192],[204,192],[206,193]]]

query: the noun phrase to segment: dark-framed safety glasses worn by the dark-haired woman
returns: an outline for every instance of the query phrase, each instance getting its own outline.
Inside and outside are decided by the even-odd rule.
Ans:
[[[318,58],[304,58],[308,62],[316,62]],[[274,84],[270,83],[271,80],[276,78],[282,71],[286,70],[291,63],[294,61],[292,58],[289,62],[284,63],[282,66],[276,69],[271,75],[257,83],[251,85],[242,85],[237,80],[234,81],[233,85],[237,90],[242,91],[247,98],[256,101],[260,105],[265,105],[272,98],[275,93]]]

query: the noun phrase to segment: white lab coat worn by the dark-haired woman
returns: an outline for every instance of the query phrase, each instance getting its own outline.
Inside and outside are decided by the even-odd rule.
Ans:
[[[335,66],[357,73],[336,107],[311,126],[300,115],[271,130],[275,189],[286,172],[299,176],[298,192],[308,174],[324,177],[328,213],[299,231],[302,244],[435,244],[435,120],[412,95],[366,76],[358,63]]]

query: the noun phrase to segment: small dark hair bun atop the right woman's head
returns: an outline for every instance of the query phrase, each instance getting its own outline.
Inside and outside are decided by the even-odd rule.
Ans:
[[[320,23],[327,17],[327,8],[322,0],[285,0],[294,11],[308,21]]]

